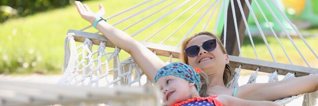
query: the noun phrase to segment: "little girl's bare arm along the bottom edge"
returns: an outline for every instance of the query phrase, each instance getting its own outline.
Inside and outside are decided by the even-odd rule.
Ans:
[[[224,106],[278,106],[279,104],[273,101],[253,101],[253,100],[244,100],[229,95],[218,95],[216,97]]]

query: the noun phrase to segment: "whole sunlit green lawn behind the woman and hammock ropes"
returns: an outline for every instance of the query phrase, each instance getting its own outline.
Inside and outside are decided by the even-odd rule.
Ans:
[[[138,3],[141,3],[141,0],[138,1],[125,1],[125,2],[118,2],[116,0],[109,0],[109,1],[88,1],[84,2],[87,4],[91,10],[97,11],[98,10],[98,4],[102,3],[105,7],[106,16],[108,17],[110,15],[113,15],[115,13],[118,13],[124,9],[130,8]],[[181,1],[183,2],[183,1]],[[181,2],[178,2],[176,4],[172,5],[172,8],[176,7]],[[150,2],[149,4],[154,4],[155,2]],[[186,4],[187,7],[194,4],[195,2],[190,2]],[[129,4],[129,5],[128,5]],[[150,9],[145,12],[145,14],[150,14],[154,12],[155,10],[162,8],[163,6],[167,5],[168,3],[163,3],[159,5],[158,7],[155,7],[153,9]],[[199,5],[203,5],[204,3],[199,3]],[[211,3],[210,3],[211,4]],[[149,6],[149,5],[148,5]],[[146,6],[139,7],[132,12],[125,13],[123,15],[118,16],[118,18],[113,18],[109,20],[109,23],[115,23],[124,17],[130,16],[137,11],[146,8]],[[199,7],[194,7],[199,8]],[[168,8],[169,9],[169,8]],[[171,8],[170,8],[171,9]],[[181,10],[185,10],[186,8],[182,7]],[[207,8],[203,9],[203,12]],[[195,12],[196,10],[189,10],[191,12]],[[138,23],[134,25],[133,27],[125,30],[125,32],[129,34],[133,34],[137,30],[141,29],[145,25],[151,23],[153,20],[155,20],[157,17],[162,16],[164,13],[167,13],[167,10],[163,10],[162,12],[158,12],[157,14],[154,14],[153,16],[149,17],[148,19],[145,19],[143,23]],[[199,14],[203,14],[203,12],[199,12]],[[153,33],[157,29],[164,26],[166,23],[168,23],[170,20],[172,20],[172,17],[177,16],[178,14],[182,13],[182,11],[176,11],[174,14],[171,14],[171,16],[164,18],[163,20],[157,22],[155,25],[147,28],[140,34],[138,34],[134,39],[143,41],[149,33]],[[123,29],[126,26],[138,21],[142,17],[145,16],[145,14],[138,15],[129,21],[125,21],[119,25],[116,25],[115,27],[119,29]],[[152,39],[149,40],[149,42],[153,43],[160,43],[164,38],[170,35],[171,32],[179,27],[180,23],[182,23],[185,19],[188,18],[192,14],[185,14],[182,15],[180,18],[178,18],[175,22],[173,22],[170,26],[165,28],[164,31],[161,31],[160,33],[157,33],[156,36],[154,36]],[[213,16],[213,18],[216,15]],[[156,17],[156,18],[154,18]],[[194,19],[190,19],[189,22],[185,24],[185,28],[180,28],[174,36],[172,36],[166,43],[166,45],[172,45],[175,46],[179,42],[181,38],[185,35],[185,33],[188,32],[188,30],[195,24],[196,20],[198,20],[200,17],[196,17]],[[192,35],[195,32],[202,31],[204,27],[204,22],[206,22],[207,19],[203,19],[202,22],[198,25],[197,28],[195,28],[189,35]],[[179,24],[176,24],[179,23]],[[215,22],[211,21],[209,24],[214,24]],[[77,13],[77,10],[74,5],[68,6],[66,8],[62,9],[56,9],[56,10],[48,10],[45,12],[41,12],[32,16],[22,17],[22,18],[16,18],[16,19],[10,19],[6,21],[3,24],[0,24],[0,39],[2,42],[0,42],[0,73],[2,74],[31,74],[31,73],[40,73],[40,74],[60,74],[61,73],[61,67],[63,64],[63,45],[64,45],[64,39],[66,36],[66,32],[68,29],[81,29],[85,26],[88,26],[89,23],[86,22],[84,19],[80,17],[80,15]],[[208,29],[212,29],[212,27],[207,27]],[[155,29],[155,30],[154,30]],[[316,30],[316,29],[311,29]],[[90,32],[96,32],[96,29],[90,28],[87,31]],[[147,36],[142,36],[147,35]],[[175,36],[178,35],[178,36]],[[247,38],[247,37],[246,37]],[[260,40],[262,38],[255,38],[256,40]],[[279,38],[281,42],[288,42],[287,38]],[[318,47],[316,46],[316,42],[318,39],[315,37],[313,38],[306,38],[307,42],[311,45],[313,50],[315,50],[316,53],[318,53]],[[246,40],[245,40],[246,41]],[[286,61],[285,56],[281,55],[281,51],[279,48],[279,45],[277,43],[274,43],[272,41],[275,41],[273,37],[268,37],[269,44],[271,46],[271,49],[274,51],[276,61],[288,63]],[[294,39],[294,41],[297,43],[299,47],[305,47],[302,43],[300,43],[300,39]],[[256,41],[254,41],[256,42]],[[263,52],[266,48],[264,44],[259,44],[261,48],[259,48],[257,51],[259,53],[259,57],[261,59],[270,60],[271,58],[268,57],[267,52]],[[293,46],[291,44],[288,48],[285,49],[292,49]],[[97,47],[94,47],[96,49]],[[251,45],[248,43],[244,43],[242,50],[249,48],[251,49]],[[306,50],[307,51],[307,50]],[[245,50],[242,54],[244,57],[250,57],[255,58],[253,56],[253,53],[250,50]],[[293,61],[296,61],[298,65],[304,65],[304,62],[301,60],[300,56],[297,56],[297,52],[291,52],[289,53],[291,57],[297,57],[296,59],[293,59]],[[310,64],[312,67],[318,67],[318,61],[317,59],[310,54],[310,52],[305,52],[303,55],[310,61]],[[129,57],[128,54],[122,53],[120,54],[122,56],[121,58]],[[300,58],[299,58],[300,57]],[[164,60],[167,60],[166,57],[161,57]]]

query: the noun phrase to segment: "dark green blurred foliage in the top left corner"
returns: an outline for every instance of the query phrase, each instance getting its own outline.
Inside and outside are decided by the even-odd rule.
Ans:
[[[26,16],[48,9],[55,9],[70,5],[75,0],[1,0],[0,23],[8,18]]]

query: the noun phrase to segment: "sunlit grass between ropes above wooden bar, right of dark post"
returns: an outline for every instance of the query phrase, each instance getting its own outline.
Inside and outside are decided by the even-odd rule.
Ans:
[[[269,49],[272,51],[273,56],[276,60],[276,62],[280,63],[287,63],[291,64],[287,56],[285,55],[283,49],[280,47],[279,43],[274,37],[266,37]],[[306,62],[301,57],[300,53],[295,49],[294,45],[290,42],[288,38],[278,38],[281,44],[283,45],[284,50],[287,52],[287,55],[290,57],[291,61],[294,65],[300,65],[300,66],[306,66]],[[308,37],[305,38],[306,42],[310,45],[310,47],[313,49],[315,53],[318,52],[318,47],[316,46],[318,42],[317,37]],[[317,68],[318,67],[318,59],[313,55],[313,53],[308,49],[308,47],[303,43],[303,41],[299,38],[293,38],[292,39],[295,42],[295,45],[297,48],[299,48],[299,51],[304,56],[304,58],[307,60],[308,64],[311,67]],[[267,61],[273,61],[273,58],[270,55],[270,52],[266,45],[264,45],[264,41],[261,37],[253,37],[253,42],[256,45],[256,51],[258,53],[258,57],[261,60],[267,60]],[[244,43],[242,46],[242,57],[248,57],[248,58],[255,58],[256,55],[253,51],[253,48],[250,44],[249,38],[245,37]]]

